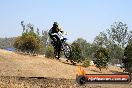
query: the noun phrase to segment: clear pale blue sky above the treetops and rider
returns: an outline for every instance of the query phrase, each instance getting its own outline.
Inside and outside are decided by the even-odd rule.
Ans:
[[[132,30],[132,0],[0,0],[0,37],[21,35],[24,24],[49,30],[54,21],[68,32],[70,42],[88,42],[114,22]]]

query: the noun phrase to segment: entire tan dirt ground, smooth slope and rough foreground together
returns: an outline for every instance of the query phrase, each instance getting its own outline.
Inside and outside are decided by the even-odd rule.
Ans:
[[[79,86],[75,82],[76,69],[77,66],[63,59],[57,61],[0,50],[0,88],[132,88],[132,83]],[[102,72],[94,66],[84,69],[89,74],[122,72],[117,67]]]

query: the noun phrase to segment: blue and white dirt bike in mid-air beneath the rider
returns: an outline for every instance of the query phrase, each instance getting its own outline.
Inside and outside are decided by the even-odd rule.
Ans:
[[[54,33],[52,35],[57,35],[60,40],[57,40],[55,37],[55,41],[52,41],[51,44],[54,46],[54,54],[57,59],[60,58],[60,52],[63,51],[66,58],[71,56],[71,47],[67,43],[67,38],[64,37],[62,33]],[[67,34],[65,34],[67,35]]]

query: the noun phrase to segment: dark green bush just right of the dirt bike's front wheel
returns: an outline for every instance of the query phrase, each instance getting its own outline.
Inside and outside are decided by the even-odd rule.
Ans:
[[[68,58],[68,60],[70,60],[72,64],[81,62],[84,59],[84,57],[82,55],[82,50],[80,45],[76,42],[73,42],[71,44],[71,48],[72,48],[71,57]]]

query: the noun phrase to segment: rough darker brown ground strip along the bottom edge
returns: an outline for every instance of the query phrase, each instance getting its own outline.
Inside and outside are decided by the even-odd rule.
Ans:
[[[130,84],[78,85],[72,79],[44,77],[0,77],[0,88],[132,88]]]

